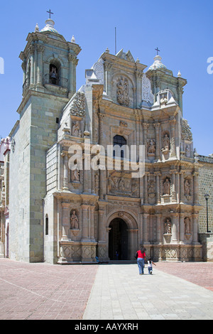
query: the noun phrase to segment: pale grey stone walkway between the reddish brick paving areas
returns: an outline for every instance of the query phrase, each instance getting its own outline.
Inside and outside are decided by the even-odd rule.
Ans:
[[[153,275],[145,269],[140,276],[137,264],[100,265],[83,319],[213,319],[212,291],[164,272],[163,266],[165,270],[167,264],[157,264]],[[173,266],[180,268],[178,263]]]

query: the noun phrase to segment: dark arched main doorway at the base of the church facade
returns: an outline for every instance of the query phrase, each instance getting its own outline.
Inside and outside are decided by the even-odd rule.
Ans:
[[[109,259],[127,260],[128,251],[128,227],[121,218],[115,218],[111,221],[109,227]],[[116,252],[118,257],[116,257]]]

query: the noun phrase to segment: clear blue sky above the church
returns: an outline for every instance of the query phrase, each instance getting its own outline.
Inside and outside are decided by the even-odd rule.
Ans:
[[[213,153],[213,74],[207,73],[207,59],[213,57],[213,1],[210,0],[81,0],[81,1],[1,1],[0,135],[9,134],[22,99],[20,52],[26,37],[45,26],[53,11],[55,28],[67,41],[72,35],[82,51],[78,55],[77,89],[84,84],[85,69],[91,68],[108,47],[114,53],[131,51],[135,60],[149,66],[158,46],[162,62],[187,79],[183,95],[183,117],[188,120],[194,146],[202,155]],[[213,67],[212,67],[213,68]]]

